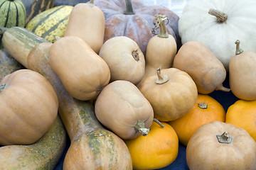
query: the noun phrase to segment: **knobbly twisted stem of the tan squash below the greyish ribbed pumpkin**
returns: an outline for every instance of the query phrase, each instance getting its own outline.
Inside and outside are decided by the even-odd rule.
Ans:
[[[167,23],[166,23],[167,21]],[[160,32],[157,34],[160,38],[169,38],[169,35],[166,31],[166,25],[169,23],[169,19],[164,15],[156,15],[154,21],[154,28],[151,33],[156,35],[156,29],[160,28]]]

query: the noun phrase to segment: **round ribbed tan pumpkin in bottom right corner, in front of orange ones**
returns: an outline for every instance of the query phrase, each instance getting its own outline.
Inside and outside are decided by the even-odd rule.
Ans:
[[[186,147],[191,170],[256,169],[256,142],[242,128],[213,121],[201,125]]]

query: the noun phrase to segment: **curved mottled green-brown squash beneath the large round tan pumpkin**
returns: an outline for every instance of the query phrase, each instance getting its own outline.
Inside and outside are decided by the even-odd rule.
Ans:
[[[32,145],[0,147],[0,169],[54,169],[62,156],[67,134],[60,117],[40,140]]]

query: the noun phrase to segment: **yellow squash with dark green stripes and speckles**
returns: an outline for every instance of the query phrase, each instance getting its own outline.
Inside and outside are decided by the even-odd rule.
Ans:
[[[65,5],[50,8],[32,18],[26,28],[50,42],[55,42],[56,36],[64,36],[72,9],[73,6]]]

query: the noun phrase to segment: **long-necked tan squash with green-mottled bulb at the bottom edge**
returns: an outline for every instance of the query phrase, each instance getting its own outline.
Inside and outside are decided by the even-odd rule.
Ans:
[[[51,45],[46,42],[35,47],[28,57],[28,66],[46,77],[58,94],[60,118],[71,141],[63,169],[132,169],[132,159],[124,141],[102,127],[92,103],[70,96],[50,68],[48,52]]]

